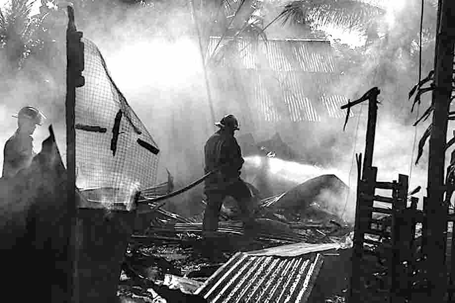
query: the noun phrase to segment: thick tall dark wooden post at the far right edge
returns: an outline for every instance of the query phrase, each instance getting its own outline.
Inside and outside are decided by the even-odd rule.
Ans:
[[[444,247],[447,231],[447,207],[444,205],[444,148],[452,91],[454,60],[455,1],[439,0],[435,45],[434,114],[431,126],[428,164],[428,281],[433,302],[443,302],[447,293]]]

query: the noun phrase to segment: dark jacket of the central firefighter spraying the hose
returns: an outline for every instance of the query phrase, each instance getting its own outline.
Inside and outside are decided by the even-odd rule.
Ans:
[[[244,163],[240,146],[235,137],[223,130],[215,132],[205,143],[205,173],[227,164],[218,173],[213,173],[205,180],[205,189],[222,189],[238,181],[240,169]]]

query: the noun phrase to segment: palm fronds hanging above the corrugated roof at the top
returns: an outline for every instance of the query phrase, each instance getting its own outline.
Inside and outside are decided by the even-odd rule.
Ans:
[[[220,57],[225,49],[232,51],[232,45],[222,43],[225,37],[247,38],[258,42],[259,38],[267,40],[266,30],[276,27],[278,21],[281,26],[300,25],[300,31],[306,30],[306,35],[312,29],[324,29],[327,26],[336,26],[342,31],[359,31],[363,34],[371,32],[375,27],[377,17],[385,10],[379,5],[366,3],[367,0],[299,0],[299,1],[255,1],[255,0],[220,0],[216,14],[212,11],[206,18],[205,25],[212,23],[206,36],[222,32],[222,38],[212,53],[207,54],[209,59]],[[245,8],[247,7],[247,8]],[[215,17],[214,17],[215,16]],[[213,26],[217,23],[217,26]],[[204,24],[201,26],[204,27]],[[215,30],[212,30],[215,28]],[[268,31],[268,32],[269,32]],[[204,32],[204,31],[203,31]],[[282,30],[281,30],[282,32]],[[297,31],[294,31],[296,34]],[[218,47],[224,45],[225,49]],[[223,48],[223,47],[221,47]],[[224,55],[222,55],[224,56]]]

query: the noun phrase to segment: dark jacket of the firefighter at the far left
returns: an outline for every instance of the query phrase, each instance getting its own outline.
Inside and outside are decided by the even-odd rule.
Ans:
[[[35,156],[33,138],[28,134],[16,132],[6,141],[3,150],[3,177],[13,177],[27,168]]]

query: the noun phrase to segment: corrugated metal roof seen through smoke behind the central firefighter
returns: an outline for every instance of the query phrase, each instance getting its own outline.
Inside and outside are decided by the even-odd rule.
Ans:
[[[209,54],[219,39],[211,38]],[[223,54],[224,51],[230,54]],[[227,92],[221,94],[221,101],[237,90],[229,87],[231,77],[221,72],[229,69],[235,71],[252,113],[260,120],[320,122],[324,116],[344,118],[340,106],[348,99],[332,91],[341,76],[336,70],[333,48],[327,41],[268,40],[259,42],[255,48],[247,40],[226,39],[216,52],[214,57],[219,62],[213,67],[217,71],[215,83]],[[235,52],[238,55],[232,55]]]

